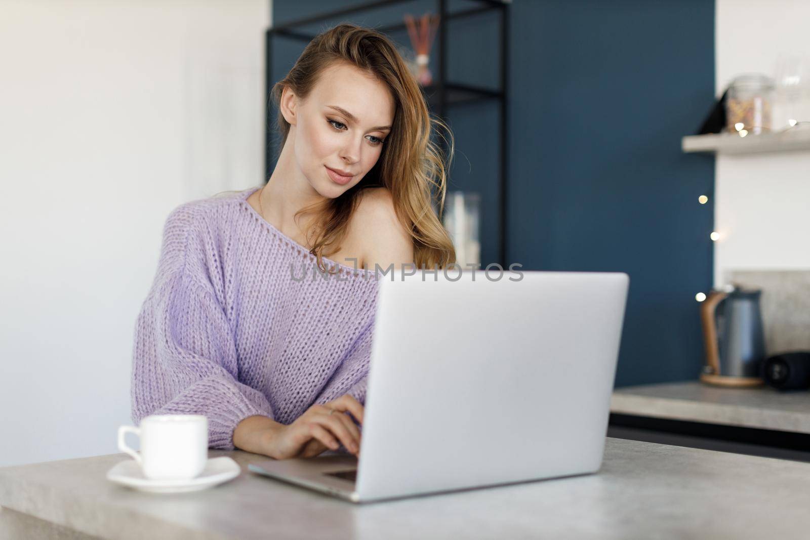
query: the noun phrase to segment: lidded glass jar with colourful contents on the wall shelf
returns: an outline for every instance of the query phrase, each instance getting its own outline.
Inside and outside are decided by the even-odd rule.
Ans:
[[[726,125],[741,136],[761,134],[771,129],[774,81],[763,74],[743,74],[728,87]]]

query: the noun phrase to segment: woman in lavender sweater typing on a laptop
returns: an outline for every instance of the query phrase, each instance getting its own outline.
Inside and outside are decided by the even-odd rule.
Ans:
[[[132,417],[206,415],[214,449],[359,456],[376,270],[455,261],[433,210],[441,121],[390,40],[352,24],[309,43],[273,97],[283,147],[266,185],[166,220]]]

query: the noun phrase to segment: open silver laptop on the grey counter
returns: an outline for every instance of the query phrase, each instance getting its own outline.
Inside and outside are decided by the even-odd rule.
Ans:
[[[381,276],[359,460],[249,470],[355,503],[598,471],[628,275],[458,275]]]

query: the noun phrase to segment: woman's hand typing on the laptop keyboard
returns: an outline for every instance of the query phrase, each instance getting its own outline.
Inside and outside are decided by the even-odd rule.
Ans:
[[[314,457],[327,449],[336,450],[343,443],[359,457],[360,430],[347,413],[363,423],[363,406],[348,394],[309,407],[293,423],[279,424],[270,432],[266,455],[275,459]]]

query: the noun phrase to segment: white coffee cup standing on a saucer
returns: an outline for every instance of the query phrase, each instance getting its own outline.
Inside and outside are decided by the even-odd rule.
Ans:
[[[127,432],[140,437],[140,453],[126,445]],[[118,427],[118,449],[134,457],[151,480],[190,480],[203,472],[208,461],[208,419],[204,415],[150,415],[139,427]]]

